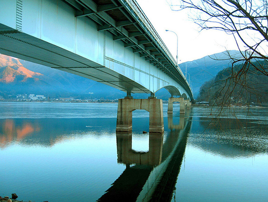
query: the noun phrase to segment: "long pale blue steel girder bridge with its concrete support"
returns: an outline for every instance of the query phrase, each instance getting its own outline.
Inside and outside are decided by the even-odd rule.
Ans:
[[[184,74],[135,0],[0,0],[0,6],[1,54],[104,83],[125,91],[126,99],[131,93],[151,94],[153,99],[119,102],[118,131],[131,130],[130,119],[123,119],[145,108],[159,119],[150,121],[150,132],[163,131],[162,101],[155,99],[159,89],[180,96],[183,106],[193,99]]]

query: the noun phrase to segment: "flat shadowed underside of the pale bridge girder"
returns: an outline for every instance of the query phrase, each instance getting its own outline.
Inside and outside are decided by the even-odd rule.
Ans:
[[[150,93],[142,85],[68,50],[0,24],[0,53],[76,74],[116,89]]]

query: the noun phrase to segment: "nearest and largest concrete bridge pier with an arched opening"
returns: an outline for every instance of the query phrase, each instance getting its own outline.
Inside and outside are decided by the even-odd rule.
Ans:
[[[162,133],[164,131],[163,103],[161,99],[119,99],[117,109],[116,131],[128,132],[132,130],[132,111],[145,109],[149,111],[149,132]]]

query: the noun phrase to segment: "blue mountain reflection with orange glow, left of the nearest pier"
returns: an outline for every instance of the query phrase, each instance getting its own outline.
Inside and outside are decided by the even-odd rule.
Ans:
[[[91,127],[86,127],[88,125]],[[73,136],[87,135],[92,130],[96,135],[101,132],[112,134],[114,125],[111,118],[0,119],[0,148],[15,141],[24,145],[50,147]]]

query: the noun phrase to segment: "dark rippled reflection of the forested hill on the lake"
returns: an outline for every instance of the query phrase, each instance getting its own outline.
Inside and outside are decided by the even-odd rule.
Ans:
[[[227,158],[268,153],[267,127],[252,123],[248,119],[218,119],[218,121],[216,125],[211,124],[209,118],[200,118],[200,121],[193,122],[192,128],[197,127],[196,123],[199,123],[204,133],[195,133],[192,130],[188,143]]]

